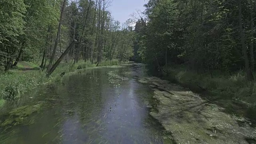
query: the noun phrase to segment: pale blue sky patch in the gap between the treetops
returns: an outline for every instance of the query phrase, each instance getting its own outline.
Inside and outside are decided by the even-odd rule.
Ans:
[[[143,12],[145,10],[143,5],[147,2],[148,0],[112,0],[107,9],[111,12],[114,20],[118,20],[122,24],[132,18],[131,14],[136,13],[136,10]]]

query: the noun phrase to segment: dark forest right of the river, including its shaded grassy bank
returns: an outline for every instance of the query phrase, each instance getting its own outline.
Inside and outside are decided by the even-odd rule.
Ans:
[[[255,0],[149,0],[135,57],[198,91],[253,103]]]

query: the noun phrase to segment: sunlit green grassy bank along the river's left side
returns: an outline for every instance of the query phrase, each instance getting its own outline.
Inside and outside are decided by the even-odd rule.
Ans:
[[[119,65],[118,60],[102,61],[98,67]],[[19,98],[30,89],[36,88],[43,84],[60,82],[62,77],[60,74],[65,72],[64,76],[75,74],[85,68],[96,67],[96,64],[80,61],[76,64],[61,63],[52,73],[50,78],[46,78],[46,72],[41,70],[24,70],[29,65],[18,65],[17,68],[0,74],[0,107],[4,105],[6,100]],[[34,64],[34,66],[36,66]],[[32,68],[35,69],[35,68]]]

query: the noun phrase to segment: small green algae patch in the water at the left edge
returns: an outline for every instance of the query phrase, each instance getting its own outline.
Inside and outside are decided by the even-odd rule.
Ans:
[[[36,104],[33,106],[21,106],[16,108],[8,113],[9,117],[0,125],[1,127],[8,125],[18,125],[22,124],[26,119],[26,116],[29,116],[33,112],[40,110],[42,104]],[[31,122],[30,122],[31,124]]]

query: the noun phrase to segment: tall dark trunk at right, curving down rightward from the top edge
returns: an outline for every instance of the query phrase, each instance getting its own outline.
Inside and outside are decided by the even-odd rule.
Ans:
[[[238,22],[239,22],[239,31],[240,31],[240,38],[241,38],[241,45],[242,45],[242,50],[244,53],[244,62],[245,62],[245,70],[246,70],[246,77],[247,80],[251,81],[253,80],[252,72],[250,70],[249,66],[249,60],[247,56],[247,50],[246,50],[246,45],[245,45],[245,40],[244,40],[244,31],[243,31],[243,26],[242,26],[242,0],[238,0]]]

